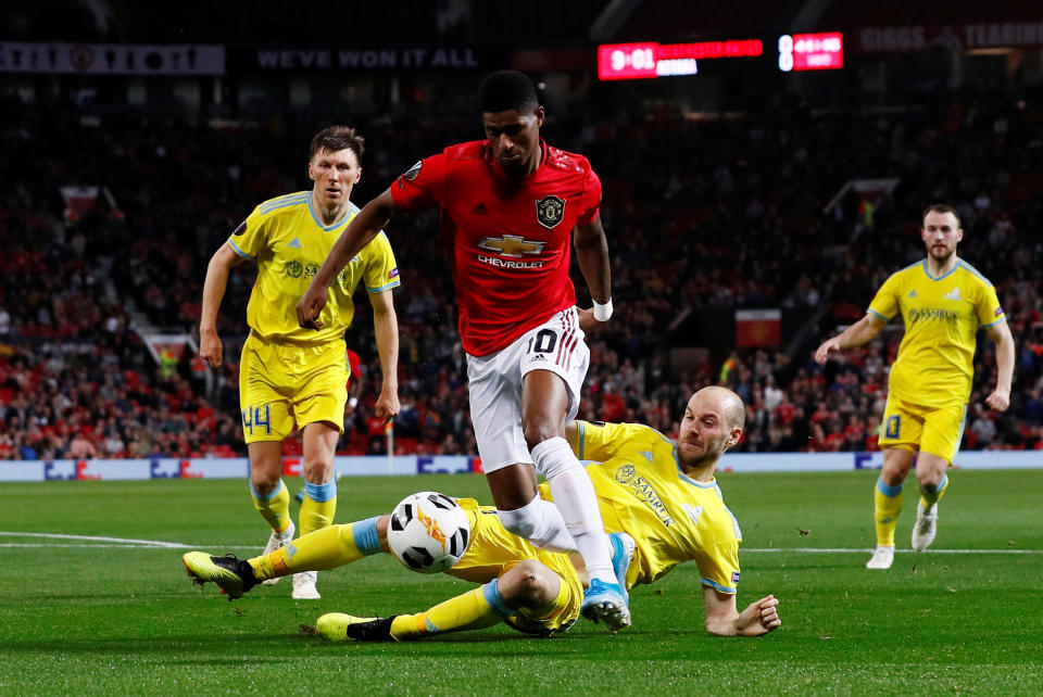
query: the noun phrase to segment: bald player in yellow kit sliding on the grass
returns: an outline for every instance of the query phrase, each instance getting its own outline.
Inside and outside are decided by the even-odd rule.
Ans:
[[[759,636],[781,624],[778,599],[768,595],[742,612],[736,606],[741,532],[714,480],[717,460],[739,442],[745,410],[737,394],[705,388],[688,403],[675,444],[640,424],[574,421],[567,428],[587,467],[606,530],[613,563],[631,588],[651,583],[683,561],[695,561],[703,586],[706,630]],[[550,496],[549,487],[541,487]],[[467,512],[470,543],[445,573],[482,584],[416,614],[356,618],[331,612],[316,632],[328,639],[404,641],[474,630],[500,621],[523,632],[567,630],[579,616],[586,572],[578,555],[540,549],[507,532],[495,509],[473,499]],[[332,525],[249,560],[190,552],[183,558],[198,584],[216,583],[229,599],[265,579],[305,569],[325,570],[388,552],[390,516]]]

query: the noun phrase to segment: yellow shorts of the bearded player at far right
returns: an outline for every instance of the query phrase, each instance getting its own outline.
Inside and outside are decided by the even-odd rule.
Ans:
[[[966,419],[966,404],[932,408],[889,395],[880,427],[880,447],[922,451],[952,465],[964,438]]]

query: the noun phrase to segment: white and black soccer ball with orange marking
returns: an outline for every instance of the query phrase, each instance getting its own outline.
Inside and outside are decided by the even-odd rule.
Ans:
[[[438,573],[460,561],[470,540],[467,514],[438,492],[410,494],[394,507],[388,525],[391,554],[406,569]]]

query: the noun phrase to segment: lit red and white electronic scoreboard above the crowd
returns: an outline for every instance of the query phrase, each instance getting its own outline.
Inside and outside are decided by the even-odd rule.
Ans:
[[[766,69],[786,73],[835,69],[844,65],[843,35],[840,31],[786,35],[771,43],[778,47],[777,61],[764,55],[761,39],[604,43],[598,47],[598,77],[602,80],[632,80],[698,75],[699,64],[704,60],[755,59],[758,64],[767,60],[777,67]]]

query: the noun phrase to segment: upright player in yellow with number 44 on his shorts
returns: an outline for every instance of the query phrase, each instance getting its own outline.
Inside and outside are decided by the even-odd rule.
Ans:
[[[206,269],[199,322],[200,356],[222,363],[217,311],[233,267],[256,259],[257,280],[250,295],[250,335],[239,364],[242,433],[250,452],[250,491],[254,507],[272,528],[265,552],[293,538],[290,494],[280,474],[282,440],[294,427],[304,439],[304,535],[334,521],[337,480],[334,454],[344,430],[349,378],[344,331],[354,317],[352,293],[365,282],[373,305],[384,385],[376,413],[390,419],[399,411],[399,328],[391,289],[399,269],[381,232],[340,273],[318,331],[297,324],[297,300],[326,259],[334,242],[359,213],[349,200],[362,176],[363,139],[353,128],[332,126],[312,139],[307,174],[311,191],[265,201],[221,245]],[[293,597],[319,597],[314,572],[293,576]],[[272,581],[273,583],[275,581]]]

